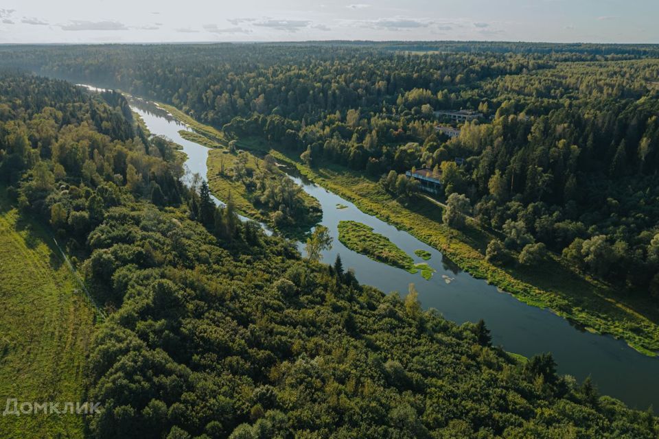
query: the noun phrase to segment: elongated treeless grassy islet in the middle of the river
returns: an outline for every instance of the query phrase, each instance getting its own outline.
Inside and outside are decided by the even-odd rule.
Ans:
[[[409,272],[417,272],[413,259],[398,248],[389,238],[373,232],[373,228],[356,221],[338,223],[338,240],[341,244],[379,261]]]

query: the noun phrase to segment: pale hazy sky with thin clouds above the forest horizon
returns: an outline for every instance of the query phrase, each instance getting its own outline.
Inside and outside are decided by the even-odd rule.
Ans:
[[[0,43],[659,43],[659,0],[354,1],[2,0]]]

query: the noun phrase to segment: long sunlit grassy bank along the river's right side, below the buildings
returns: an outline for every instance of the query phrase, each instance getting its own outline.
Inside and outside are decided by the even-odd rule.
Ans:
[[[311,169],[301,163],[299,154],[275,150],[264,139],[240,139],[238,147],[268,152],[277,160],[297,167],[316,184],[354,202],[365,213],[408,231],[443,252],[462,270],[528,305],[551,309],[593,333],[621,338],[645,355],[656,355],[659,351],[659,310],[645,297],[623,294],[583,276],[556,254],[550,254],[538,267],[492,265],[485,260],[485,248],[495,238],[492,231],[472,220],[467,221],[464,230],[452,230],[441,222],[442,207],[424,197],[403,204],[373,179],[334,164]]]

